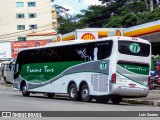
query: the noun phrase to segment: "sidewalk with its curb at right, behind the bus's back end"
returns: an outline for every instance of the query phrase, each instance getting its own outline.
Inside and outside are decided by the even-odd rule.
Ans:
[[[160,90],[150,90],[147,97],[124,99],[123,102],[131,104],[155,105],[160,107]]]

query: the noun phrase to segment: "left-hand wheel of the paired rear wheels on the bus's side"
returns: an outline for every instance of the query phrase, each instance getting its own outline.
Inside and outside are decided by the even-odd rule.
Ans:
[[[80,98],[79,92],[77,91],[77,86],[75,84],[71,84],[69,86],[69,98],[71,101],[77,101]]]

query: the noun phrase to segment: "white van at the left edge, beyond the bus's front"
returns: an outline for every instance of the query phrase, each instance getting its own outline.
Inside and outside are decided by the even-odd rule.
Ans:
[[[13,83],[14,63],[5,61],[1,64],[1,80],[5,83]]]

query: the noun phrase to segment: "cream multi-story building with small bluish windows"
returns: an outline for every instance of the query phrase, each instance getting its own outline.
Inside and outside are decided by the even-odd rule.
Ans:
[[[0,41],[51,39],[56,34],[52,1],[0,0]]]

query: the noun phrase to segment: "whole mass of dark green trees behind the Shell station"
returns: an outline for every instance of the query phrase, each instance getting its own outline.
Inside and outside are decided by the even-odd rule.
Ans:
[[[82,14],[77,14],[74,21],[61,17],[58,32],[65,34],[86,27],[126,28],[160,19],[160,8],[151,12],[145,0],[140,1],[111,0],[107,6],[89,6],[87,10],[81,11]]]

